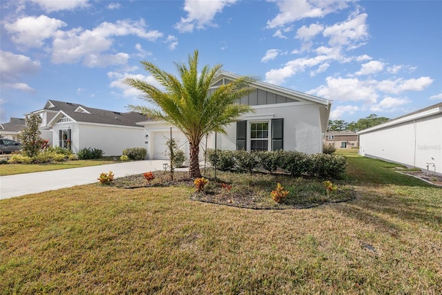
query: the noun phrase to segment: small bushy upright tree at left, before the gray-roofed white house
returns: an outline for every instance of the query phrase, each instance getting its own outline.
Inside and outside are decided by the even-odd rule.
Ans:
[[[40,137],[41,131],[39,130],[41,117],[32,114],[25,119],[25,123],[26,127],[20,133],[20,142],[23,146],[23,152],[29,157],[33,157],[39,153],[41,142],[43,141]]]

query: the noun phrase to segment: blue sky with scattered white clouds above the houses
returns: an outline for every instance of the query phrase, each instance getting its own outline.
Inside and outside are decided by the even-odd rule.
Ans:
[[[442,102],[442,1],[1,0],[0,122],[46,100],[127,111],[122,84],[153,61],[200,66],[333,100],[331,120]]]

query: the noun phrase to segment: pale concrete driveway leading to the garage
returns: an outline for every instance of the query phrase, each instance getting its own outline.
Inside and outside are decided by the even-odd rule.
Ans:
[[[0,200],[23,196],[28,193],[41,193],[42,191],[52,191],[54,189],[98,182],[97,178],[102,172],[108,173],[112,171],[115,178],[119,178],[148,171],[162,171],[164,170],[164,163],[169,163],[169,161],[143,160],[0,176]],[[176,171],[188,171],[188,169],[180,168],[176,169]]]

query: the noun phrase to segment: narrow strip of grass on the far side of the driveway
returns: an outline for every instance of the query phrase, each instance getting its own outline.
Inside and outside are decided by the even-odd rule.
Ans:
[[[0,165],[0,176],[114,163],[115,162],[113,162],[113,157],[102,157],[100,159],[93,160],[64,161],[44,164],[2,164]]]

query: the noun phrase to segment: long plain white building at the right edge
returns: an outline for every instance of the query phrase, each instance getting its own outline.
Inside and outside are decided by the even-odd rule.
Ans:
[[[358,134],[361,155],[442,174],[442,103]]]

